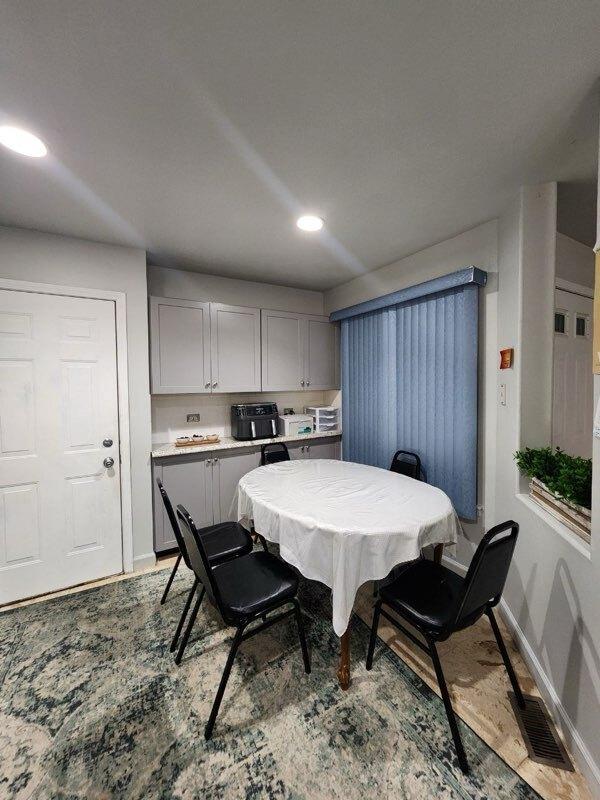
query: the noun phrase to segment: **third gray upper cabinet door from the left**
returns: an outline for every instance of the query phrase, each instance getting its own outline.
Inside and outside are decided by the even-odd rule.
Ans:
[[[302,314],[261,311],[263,391],[304,387],[304,327]]]

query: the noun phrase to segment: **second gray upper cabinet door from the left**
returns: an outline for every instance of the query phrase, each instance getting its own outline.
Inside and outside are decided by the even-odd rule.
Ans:
[[[260,309],[210,304],[213,392],[260,391]]]

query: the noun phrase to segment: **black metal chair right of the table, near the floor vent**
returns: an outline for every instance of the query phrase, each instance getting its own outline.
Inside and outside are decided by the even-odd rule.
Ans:
[[[518,534],[519,526],[512,520],[496,525],[495,528],[488,531],[481,540],[464,578],[441,564],[435,564],[433,561],[423,558],[411,563],[393,583],[380,590],[374,607],[371,638],[367,652],[367,669],[371,669],[373,665],[377,627],[379,616],[382,615],[414,644],[424,650],[433,661],[458,761],[463,772],[468,772],[469,764],[454,716],[436,642],[445,641],[455,631],[470,627],[483,614],[486,614],[494,631],[517,702],[521,708],[525,707],[521,688],[492,611],[494,606],[500,602]],[[382,608],[384,605],[389,606],[413,628],[416,628],[425,639],[425,644],[395,617],[391,616],[385,608]]]

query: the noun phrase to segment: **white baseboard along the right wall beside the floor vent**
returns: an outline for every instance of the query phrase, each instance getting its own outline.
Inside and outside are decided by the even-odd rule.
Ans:
[[[443,556],[443,562],[448,569],[458,572],[460,575],[466,575],[467,569],[458,561],[455,561],[449,556]],[[548,709],[561,730],[572,755],[576,758],[577,764],[590,784],[590,789],[594,797],[600,797],[600,766],[594,760],[592,754],[587,748],[584,740],[582,739],[579,731],[575,727],[573,720],[569,717],[567,710],[563,706],[556,689],[552,685],[546,671],[540,664],[533,648],[527,641],[527,637],[523,633],[519,623],[517,622],[514,614],[508,607],[506,600],[502,598],[498,609],[506,622],[508,629],[517,645],[523,660],[527,664],[529,671],[542,695],[542,698]]]

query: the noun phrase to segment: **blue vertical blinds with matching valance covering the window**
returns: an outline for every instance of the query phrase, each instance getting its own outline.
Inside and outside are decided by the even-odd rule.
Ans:
[[[413,451],[428,483],[448,494],[461,517],[475,519],[478,286],[485,273],[463,273],[472,280],[431,281],[421,285],[427,294],[413,291],[402,301],[398,293],[389,305],[365,311],[363,304],[332,319],[342,325],[344,458],[388,468],[396,450]]]

